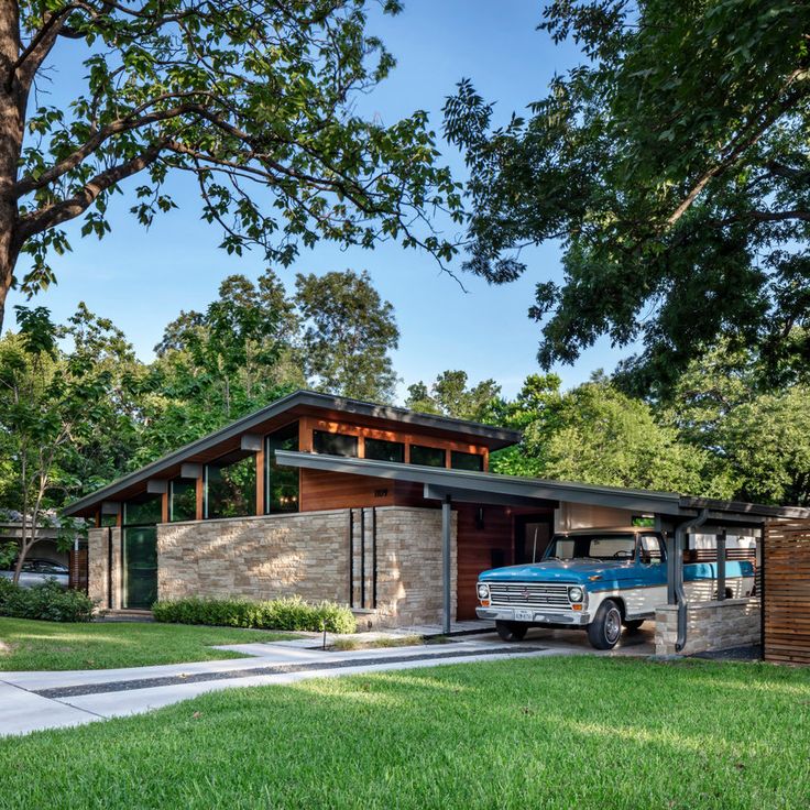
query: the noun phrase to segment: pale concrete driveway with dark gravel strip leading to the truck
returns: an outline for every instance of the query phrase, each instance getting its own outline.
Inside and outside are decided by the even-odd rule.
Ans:
[[[646,636],[609,655],[647,655]],[[583,633],[533,631],[519,644],[495,634],[448,644],[324,650],[314,638],[226,645],[247,658],[130,669],[0,674],[0,735],[57,729],[158,709],[204,692],[231,687],[293,683],[392,669],[472,664],[504,658],[595,653]],[[599,655],[605,655],[600,653]]]

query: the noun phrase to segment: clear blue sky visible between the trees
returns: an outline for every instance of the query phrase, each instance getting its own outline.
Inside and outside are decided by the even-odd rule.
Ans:
[[[539,19],[540,4],[529,0],[406,0],[397,17],[373,14],[371,30],[396,56],[397,67],[362,100],[361,109],[385,123],[425,109],[439,132],[445,97],[460,78],[470,77],[484,98],[496,101],[496,121],[505,121],[513,110],[523,111],[541,97],[554,74],[577,58],[572,46],[555,46],[536,31]],[[66,73],[63,69],[63,80]],[[55,87],[58,84],[57,78]],[[445,162],[463,177],[459,154],[447,144],[440,147]],[[125,190],[136,183],[131,179]],[[199,219],[188,178],[174,178],[169,189],[179,210],[156,219],[149,231],[130,217],[128,195],[112,201],[112,233],[105,240],[81,239],[78,228],[69,227],[74,251],[55,258],[58,284],[34,303],[63,320],[84,300],[91,310],[112,318],[147,361],[164,326],[180,309],[204,308],[226,275],[255,277],[262,272],[259,252],[239,259],[217,248],[221,232]],[[518,282],[492,287],[464,276],[468,293],[429,256],[395,244],[375,251],[320,244],[303,251],[294,266],[276,271],[292,288],[296,272],[368,270],[396,309],[402,339],[394,365],[403,377],[401,393],[445,369],[464,369],[473,382],[493,377],[512,395],[526,374],[538,371],[539,329],[526,315],[535,284],[561,273],[556,245],[532,250],[524,258],[528,271]],[[12,293],[10,307],[20,303],[25,303],[22,296]],[[7,322],[13,328],[12,318]],[[612,369],[620,357],[622,352],[601,342],[576,366],[556,371],[570,386],[587,380],[594,369]]]

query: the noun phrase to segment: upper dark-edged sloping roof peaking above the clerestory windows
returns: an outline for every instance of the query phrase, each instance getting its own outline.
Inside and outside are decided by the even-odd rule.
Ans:
[[[361,416],[381,428],[405,426],[426,435],[469,439],[490,450],[510,447],[521,440],[521,434],[516,430],[314,391],[296,391],[75,501],[63,510],[63,514],[88,515],[105,501],[127,500],[145,493],[150,479],[177,478],[183,463],[207,463],[238,450],[240,437],[245,433],[269,433],[303,416],[332,419],[351,415]]]

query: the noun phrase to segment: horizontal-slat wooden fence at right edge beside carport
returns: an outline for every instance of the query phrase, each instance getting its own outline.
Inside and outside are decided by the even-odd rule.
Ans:
[[[764,658],[810,664],[810,521],[769,524],[763,560]]]

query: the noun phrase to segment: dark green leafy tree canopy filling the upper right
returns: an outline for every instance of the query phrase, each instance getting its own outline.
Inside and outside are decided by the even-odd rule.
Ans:
[[[470,81],[446,134],[470,168],[466,266],[504,283],[526,244],[561,240],[537,285],[539,361],[606,335],[642,341],[643,388],[720,336],[763,357],[810,315],[810,6],[798,0],[559,0],[540,29],[582,64],[491,130]]]

